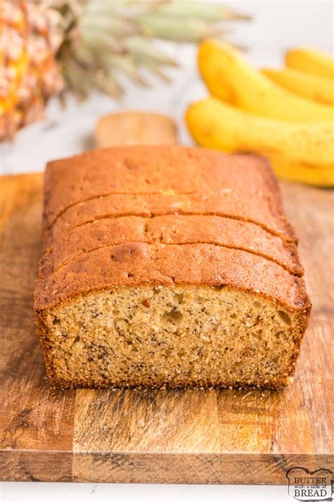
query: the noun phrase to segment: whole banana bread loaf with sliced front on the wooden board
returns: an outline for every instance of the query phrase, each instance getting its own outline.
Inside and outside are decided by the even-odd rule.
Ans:
[[[49,163],[37,331],[56,387],[280,388],[311,304],[266,161],[201,148]]]

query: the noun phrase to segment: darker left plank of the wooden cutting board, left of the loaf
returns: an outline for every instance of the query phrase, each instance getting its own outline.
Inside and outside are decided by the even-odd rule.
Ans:
[[[49,386],[35,335],[41,188],[41,175],[0,178],[0,479],[71,472],[75,394]]]

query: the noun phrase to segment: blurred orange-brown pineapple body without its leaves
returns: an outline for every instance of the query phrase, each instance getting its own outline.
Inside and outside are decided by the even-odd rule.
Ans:
[[[30,0],[0,4],[0,141],[44,116],[63,89],[55,54],[61,37],[51,11]]]

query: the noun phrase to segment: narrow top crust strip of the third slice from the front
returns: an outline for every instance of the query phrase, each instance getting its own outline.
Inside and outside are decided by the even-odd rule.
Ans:
[[[209,193],[207,195],[120,195],[94,198],[68,208],[51,228],[44,228],[44,241],[55,239],[69,229],[105,218],[123,216],[156,217],[166,215],[221,216],[233,220],[251,222],[278,235],[284,241],[295,241],[280,232],[277,219],[270,213],[264,217],[262,203],[257,198],[249,199],[245,205],[234,193]]]

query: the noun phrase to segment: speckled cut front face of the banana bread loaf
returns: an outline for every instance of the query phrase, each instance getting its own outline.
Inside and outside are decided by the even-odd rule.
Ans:
[[[37,312],[56,387],[281,388],[307,309],[232,287],[119,287]]]

